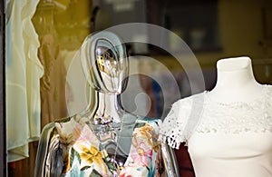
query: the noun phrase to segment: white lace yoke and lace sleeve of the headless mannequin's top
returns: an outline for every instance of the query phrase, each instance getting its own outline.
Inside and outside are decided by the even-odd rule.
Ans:
[[[251,103],[216,103],[204,95],[203,113],[197,133],[272,133],[272,86],[264,85],[262,96]],[[187,143],[184,133],[194,95],[174,103],[160,127],[160,140],[179,148]]]

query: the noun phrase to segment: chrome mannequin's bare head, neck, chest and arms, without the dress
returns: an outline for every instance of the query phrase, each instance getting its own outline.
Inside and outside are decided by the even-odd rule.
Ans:
[[[118,166],[126,161],[130,152],[134,123],[139,117],[124,111],[120,102],[120,95],[126,88],[129,75],[125,45],[111,32],[92,34],[83,42],[81,59],[83,73],[94,90],[90,88],[87,109],[73,117],[89,118],[90,127],[101,142],[101,149],[109,155],[112,174],[118,176]],[[63,119],[63,122],[67,121],[69,118]],[[47,144],[53,137],[48,134],[53,134],[53,126],[50,123],[43,130],[34,176],[44,176],[46,153],[51,153]],[[161,152],[167,176],[180,176],[172,150],[166,144],[161,144]]]

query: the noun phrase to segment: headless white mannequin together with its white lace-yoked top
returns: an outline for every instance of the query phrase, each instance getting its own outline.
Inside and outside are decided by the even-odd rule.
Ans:
[[[173,148],[188,145],[198,177],[271,176],[271,85],[257,83],[247,56],[221,59],[217,71],[211,91],[173,103],[160,138]],[[200,117],[189,116],[194,108]]]

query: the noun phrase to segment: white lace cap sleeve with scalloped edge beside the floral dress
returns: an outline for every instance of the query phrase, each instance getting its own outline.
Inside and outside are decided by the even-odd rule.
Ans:
[[[203,93],[180,99],[172,104],[170,113],[160,126],[160,141],[179,149],[196,129],[203,108]]]

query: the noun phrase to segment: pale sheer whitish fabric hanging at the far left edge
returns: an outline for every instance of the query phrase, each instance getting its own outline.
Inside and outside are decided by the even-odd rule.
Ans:
[[[38,0],[7,0],[6,129],[8,162],[28,157],[28,143],[40,136],[40,78],[44,67],[37,56],[38,35],[32,24]]]

